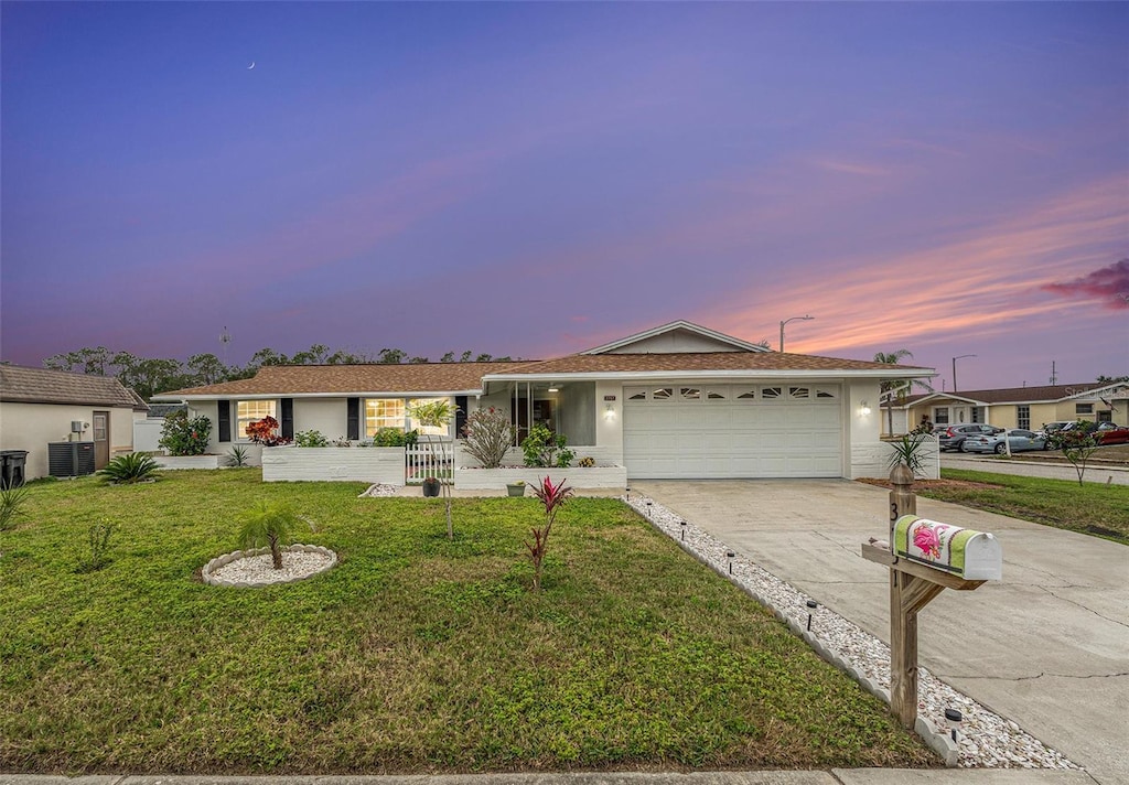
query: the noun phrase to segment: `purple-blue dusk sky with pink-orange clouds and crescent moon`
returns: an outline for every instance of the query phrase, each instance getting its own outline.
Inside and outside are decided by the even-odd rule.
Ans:
[[[0,357],[686,319],[1129,374],[1127,3],[2,5]],[[248,66],[254,62],[253,69]]]

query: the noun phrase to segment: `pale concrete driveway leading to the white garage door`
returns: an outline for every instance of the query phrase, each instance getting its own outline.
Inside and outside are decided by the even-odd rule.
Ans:
[[[637,481],[646,494],[890,643],[887,491],[849,480]],[[1084,766],[1129,784],[1129,547],[960,505],[918,514],[997,534],[1004,579],[944,592],[919,617],[919,662]]]

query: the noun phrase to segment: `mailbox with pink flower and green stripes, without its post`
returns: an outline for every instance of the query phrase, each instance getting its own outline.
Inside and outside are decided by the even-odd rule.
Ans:
[[[952,573],[965,581],[999,581],[1004,550],[991,534],[902,515],[891,538],[894,556]]]

